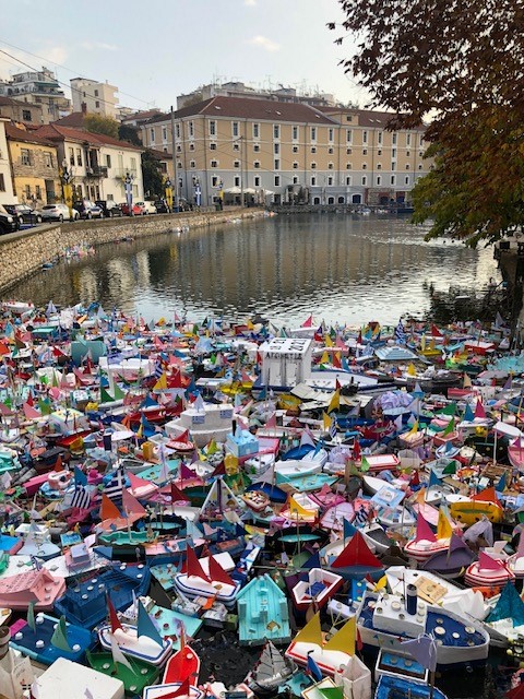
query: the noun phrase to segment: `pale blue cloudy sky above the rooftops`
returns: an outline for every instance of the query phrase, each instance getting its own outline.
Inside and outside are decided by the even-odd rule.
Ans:
[[[326,27],[344,19],[337,0],[15,0],[9,10],[0,0],[0,9],[4,3],[3,80],[46,66],[67,87],[71,78],[107,81],[133,109],[168,109],[177,95],[230,80],[330,93],[361,107],[367,100],[338,64],[352,39],[337,46],[344,29]]]

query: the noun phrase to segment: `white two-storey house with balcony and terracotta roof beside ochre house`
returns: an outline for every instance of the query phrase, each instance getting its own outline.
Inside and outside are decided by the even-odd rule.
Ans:
[[[76,200],[124,202],[128,174],[132,178],[133,199],[143,199],[142,150],[138,146],[56,123],[41,127],[37,133],[57,146],[59,165],[72,176]]]

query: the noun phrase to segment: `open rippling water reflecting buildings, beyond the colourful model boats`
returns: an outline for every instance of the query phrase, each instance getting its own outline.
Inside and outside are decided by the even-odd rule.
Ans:
[[[277,325],[396,324],[429,310],[431,291],[486,288],[499,281],[490,249],[424,241],[409,217],[274,216],[102,246],[36,273],[12,298],[66,306],[97,300],[146,321],[172,313]],[[129,228],[132,236],[132,225]]]

